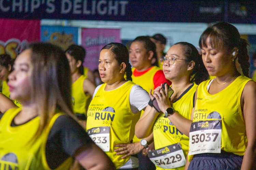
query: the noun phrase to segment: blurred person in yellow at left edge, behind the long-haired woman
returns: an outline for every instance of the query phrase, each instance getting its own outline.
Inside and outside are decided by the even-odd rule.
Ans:
[[[0,55],[0,81],[2,83],[2,94],[6,97],[10,98],[10,91],[7,85],[8,75],[13,70],[13,62],[14,60],[11,58],[9,54],[1,54]],[[11,99],[11,98],[10,98]],[[22,104],[19,101],[11,99],[18,107],[21,107]]]

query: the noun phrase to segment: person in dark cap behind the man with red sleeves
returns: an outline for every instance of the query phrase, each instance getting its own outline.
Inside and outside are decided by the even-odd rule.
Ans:
[[[156,45],[156,56],[157,56],[158,67],[162,69],[162,65],[160,64],[160,58],[162,56],[165,56],[165,53],[163,52],[163,50],[165,49],[166,38],[162,34],[155,34],[150,39]]]

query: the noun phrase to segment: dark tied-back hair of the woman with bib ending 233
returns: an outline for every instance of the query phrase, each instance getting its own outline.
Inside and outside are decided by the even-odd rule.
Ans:
[[[110,51],[112,51],[115,54],[115,59],[118,63],[118,65],[120,65],[121,63],[125,63],[126,64],[126,80],[132,80],[131,79],[131,75],[132,75],[132,71],[131,71],[131,65],[129,63],[129,53],[128,53],[128,49],[126,48],[126,46],[124,46],[121,43],[110,43],[108,45],[105,45],[101,50],[103,49],[108,49]]]

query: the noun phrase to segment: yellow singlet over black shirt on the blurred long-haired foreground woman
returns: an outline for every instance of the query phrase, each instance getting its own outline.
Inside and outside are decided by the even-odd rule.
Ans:
[[[25,124],[11,126],[12,120],[20,110],[21,108],[9,109],[0,119],[0,169],[51,170],[46,161],[45,146],[55,120],[62,114],[54,115],[42,135],[31,143],[40,118],[36,117]],[[73,159],[70,157],[56,170],[68,170],[72,163]]]

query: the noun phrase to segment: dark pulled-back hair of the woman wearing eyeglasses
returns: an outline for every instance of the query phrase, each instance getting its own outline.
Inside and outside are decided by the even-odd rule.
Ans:
[[[191,61],[195,62],[195,66],[192,72],[190,73],[190,77],[191,77],[190,81],[196,84],[200,84],[201,82],[207,80],[209,74],[207,69],[204,67],[202,56],[199,55],[196,47],[187,42],[180,42],[180,43],[176,43],[175,45],[177,44],[183,47],[184,55],[187,58],[188,62],[191,62]]]

